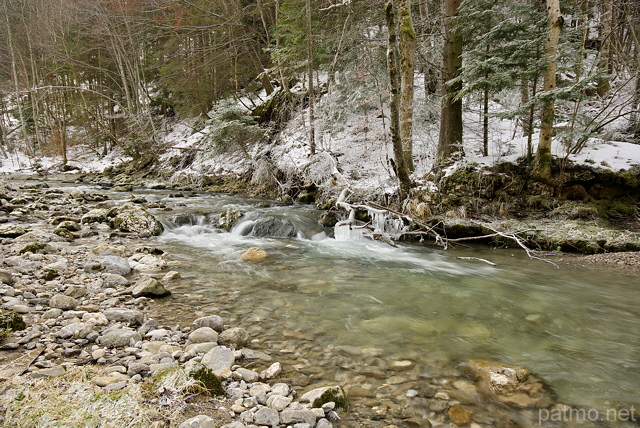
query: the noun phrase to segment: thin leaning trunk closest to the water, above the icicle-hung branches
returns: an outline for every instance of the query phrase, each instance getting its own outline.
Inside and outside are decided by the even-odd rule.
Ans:
[[[411,190],[409,169],[404,161],[402,152],[402,140],[400,139],[400,61],[398,59],[398,28],[396,25],[393,0],[387,0],[385,4],[385,17],[389,39],[387,44],[387,71],[389,73],[390,114],[391,114],[391,141],[393,156],[395,158],[395,173],[400,185],[400,200],[403,201]]]

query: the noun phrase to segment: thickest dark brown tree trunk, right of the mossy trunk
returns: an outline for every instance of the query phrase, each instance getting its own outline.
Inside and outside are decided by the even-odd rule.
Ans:
[[[442,67],[442,113],[440,116],[440,139],[438,162],[451,156],[464,156],[462,147],[462,100],[456,94],[462,89],[462,37],[457,30],[457,17],[461,0],[445,0],[444,51]]]

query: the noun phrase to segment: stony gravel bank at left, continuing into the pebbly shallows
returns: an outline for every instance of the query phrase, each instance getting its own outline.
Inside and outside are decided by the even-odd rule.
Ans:
[[[4,426],[478,428],[570,409],[522,367],[470,361],[431,373],[375,349],[318,352],[292,334],[276,356],[216,313],[163,325],[149,314],[158,299],[170,307],[181,273],[150,245],[162,225],[144,198],[33,181],[0,183],[0,200],[2,305],[26,323],[0,347]],[[353,375],[314,384],[280,358],[307,353]]]

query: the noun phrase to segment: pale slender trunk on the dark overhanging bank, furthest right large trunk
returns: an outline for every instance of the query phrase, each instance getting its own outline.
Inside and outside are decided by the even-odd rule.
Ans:
[[[558,40],[562,29],[562,15],[560,15],[560,0],[547,0],[549,12],[549,36],[546,44],[547,69],[544,72],[544,92],[556,88],[556,57]],[[533,175],[541,180],[551,180],[551,139],[553,137],[553,116],[555,103],[552,97],[545,100],[542,106],[540,123],[540,140],[533,165]]]

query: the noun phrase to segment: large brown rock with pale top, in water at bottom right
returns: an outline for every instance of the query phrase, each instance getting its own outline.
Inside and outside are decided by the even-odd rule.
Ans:
[[[467,370],[484,396],[514,408],[545,408],[553,404],[542,382],[524,367],[497,361],[471,360]]]

